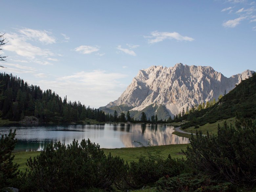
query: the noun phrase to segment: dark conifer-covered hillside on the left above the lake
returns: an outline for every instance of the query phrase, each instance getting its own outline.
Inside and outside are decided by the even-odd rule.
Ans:
[[[24,116],[37,117],[41,122],[79,122],[86,118],[105,121],[105,113],[71,102],[67,96],[62,98],[48,89],[42,91],[39,86],[29,85],[16,76],[0,74],[3,99],[0,100],[1,117],[14,121]]]

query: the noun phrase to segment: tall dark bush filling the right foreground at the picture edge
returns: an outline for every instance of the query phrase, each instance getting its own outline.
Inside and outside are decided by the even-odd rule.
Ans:
[[[217,135],[191,137],[185,152],[191,166],[236,185],[256,184],[256,125],[251,120],[224,123]]]

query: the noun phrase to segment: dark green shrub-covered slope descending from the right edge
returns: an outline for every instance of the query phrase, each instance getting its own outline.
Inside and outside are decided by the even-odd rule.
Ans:
[[[189,122],[182,125],[188,128],[195,125],[213,123],[231,117],[256,118],[256,75],[242,81],[232,91],[223,96],[212,107],[185,115],[180,120]]]

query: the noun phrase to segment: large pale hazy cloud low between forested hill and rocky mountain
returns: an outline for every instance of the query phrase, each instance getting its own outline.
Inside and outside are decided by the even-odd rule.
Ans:
[[[120,73],[94,70],[91,72],[82,71],[54,80],[43,79],[33,83],[40,85],[41,89],[54,90],[62,98],[67,95],[68,100],[80,100],[85,105],[100,107],[121,95],[127,86],[121,83],[121,79],[127,76]]]

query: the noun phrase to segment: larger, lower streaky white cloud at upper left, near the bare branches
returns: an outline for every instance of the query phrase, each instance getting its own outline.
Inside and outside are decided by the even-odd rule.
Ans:
[[[49,50],[31,45],[26,42],[26,39],[20,37],[16,33],[6,33],[5,37],[8,43],[4,45],[4,49],[7,51],[16,52],[18,55],[28,57],[30,59],[35,58],[35,56],[53,55]]]

